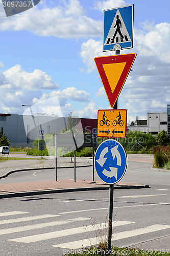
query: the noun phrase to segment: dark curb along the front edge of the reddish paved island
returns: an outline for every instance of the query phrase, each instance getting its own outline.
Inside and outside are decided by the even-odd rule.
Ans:
[[[136,189],[136,188],[150,188],[149,185],[114,185],[114,189]],[[79,192],[79,191],[92,191],[92,190],[108,190],[108,186],[102,187],[79,187],[79,188],[60,188],[60,189],[47,189],[47,190],[34,190],[34,191],[22,191],[17,193],[6,193],[0,194],[0,199],[2,198],[12,198],[12,197],[26,197],[26,196],[36,196],[36,195],[46,195],[46,194],[56,194],[56,193],[68,193],[68,192]]]

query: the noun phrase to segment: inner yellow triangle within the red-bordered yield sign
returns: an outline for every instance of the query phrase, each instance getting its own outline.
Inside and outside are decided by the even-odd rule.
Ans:
[[[102,65],[107,76],[107,79],[109,81],[112,92],[114,92],[116,88],[116,85],[118,83],[118,80],[120,79],[120,76],[122,75],[125,65],[126,62]]]

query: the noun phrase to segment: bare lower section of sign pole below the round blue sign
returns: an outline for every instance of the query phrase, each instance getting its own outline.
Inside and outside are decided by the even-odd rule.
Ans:
[[[110,188],[109,188],[110,194],[109,194],[108,250],[111,250],[111,246],[112,246],[113,191],[114,191],[114,184],[110,184]]]

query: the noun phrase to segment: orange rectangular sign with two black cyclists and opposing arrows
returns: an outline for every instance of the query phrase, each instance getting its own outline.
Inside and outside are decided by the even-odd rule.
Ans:
[[[98,110],[98,137],[125,138],[127,110]]]

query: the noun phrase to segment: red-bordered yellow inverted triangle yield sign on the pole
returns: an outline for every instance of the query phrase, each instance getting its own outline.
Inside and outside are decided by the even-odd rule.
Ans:
[[[136,53],[95,57],[111,108],[113,108],[131,70]]]

